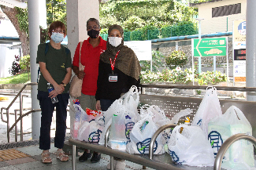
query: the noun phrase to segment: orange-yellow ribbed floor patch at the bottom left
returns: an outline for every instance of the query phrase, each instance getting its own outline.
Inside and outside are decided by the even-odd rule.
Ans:
[[[17,158],[29,157],[28,154],[24,154],[18,150],[9,149],[0,151],[0,161],[9,161]]]

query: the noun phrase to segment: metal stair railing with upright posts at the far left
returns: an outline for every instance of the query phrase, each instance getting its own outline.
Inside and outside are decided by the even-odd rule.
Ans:
[[[28,85],[37,85],[37,83],[35,82],[32,82],[32,83],[27,83],[23,86],[23,88],[20,89],[20,92],[17,93],[17,95],[14,97],[14,99],[12,100],[11,103],[9,103],[9,106],[8,107],[2,107],[1,108],[1,120],[3,122],[5,122],[7,124],[7,141],[8,143],[10,142],[10,139],[9,139],[9,132],[11,131],[10,128],[9,128],[9,108],[13,106],[13,103],[16,101],[16,99],[19,97],[20,98],[20,117],[21,119],[20,120],[20,132],[22,133],[23,131],[23,116],[22,116],[22,112],[23,112],[23,94],[22,92],[24,91],[24,89],[28,86]],[[6,120],[4,119],[3,117],[3,110],[6,110]],[[35,110],[34,110],[35,111]],[[33,112],[33,111],[32,111]],[[31,112],[31,113],[32,113]],[[15,113],[16,113],[16,118],[17,118],[17,110],[15,110]],[[15,126],[15,134],[16,134],[16,137],[15,137],[15,140],[17,142],[17,123],[15,123],[12,127]],[[12,128],[13,129],[13,128]],[[23,135],[21,136],[20,135],[20,139],[23,139]]]

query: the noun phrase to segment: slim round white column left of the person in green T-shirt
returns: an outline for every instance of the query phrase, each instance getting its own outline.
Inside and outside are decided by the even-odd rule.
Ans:
[[[39,0],[28,1],[28,30],[30,47],[30,68],[31,81],[37,81],[37,71],[39,64],[35,62],[37,56],[37,46],[40,43],[39,30]],[[37,99],[37,85],[32,85],[32,109],[39,109],[39,100]],[[32,113],[32,139],[39,139],[41,126],[41,113]]]

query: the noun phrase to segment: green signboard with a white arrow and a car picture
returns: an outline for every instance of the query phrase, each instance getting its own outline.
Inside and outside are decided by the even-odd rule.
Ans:
[[[194,56],[226,56],[227,38],[193,39]]]

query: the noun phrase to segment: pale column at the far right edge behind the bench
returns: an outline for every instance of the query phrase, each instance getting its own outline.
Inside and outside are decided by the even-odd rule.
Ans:
[[[256,1],[247,0],[247,87],[256,87]],[[247,92],[247,101],[256,101],[255,92]]]

